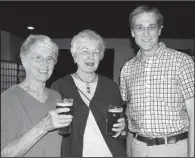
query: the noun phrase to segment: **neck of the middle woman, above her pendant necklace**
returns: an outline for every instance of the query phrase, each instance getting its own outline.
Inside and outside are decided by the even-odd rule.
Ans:
[[[82,80],[83,82],[86,82],[86,83],[93,82],[97,77],[95,72],[85,73],[85,72],[82,72],[79,70],[76,72],[76,75],[80,78],[80,80]]]

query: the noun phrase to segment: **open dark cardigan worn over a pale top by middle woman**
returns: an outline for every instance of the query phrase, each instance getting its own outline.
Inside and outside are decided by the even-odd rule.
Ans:
[[[67,75],[52,84],[63,97],[74,99],[72,132],[63,137],[61,146],[62,157],[82,157],[83,135],[89,114],[88,106],[83,102],[71,75]],[[95,117],[104,140],[113,156],[126,156],[125,139],[106,135],[106,114],[109,104],[120,104],[122,101],[118,85],[107,77],[98,75],[98,84],[90,109]]]

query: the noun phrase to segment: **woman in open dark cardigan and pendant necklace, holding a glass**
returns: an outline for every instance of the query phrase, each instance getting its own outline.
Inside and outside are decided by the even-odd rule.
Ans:
[[[74,99],[74,119],[70,136],[62,140],[62,157],[125,156],[124,118],[118,119],[113,131],[106,134],[108,106],[121,104],[118,85],[96,74],[104,57],[105,43],[92,30],[79,32],[71,42],[71,54],[78,68],[75,73],[58,79],[52,88]]]

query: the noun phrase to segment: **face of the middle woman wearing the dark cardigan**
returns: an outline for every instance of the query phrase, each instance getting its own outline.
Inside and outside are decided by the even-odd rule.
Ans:
[[[78,71],[93,73],[97,70],[101,60],[99,42],[88,38],[77,43],[77,50],[74,60],[78,65]]]

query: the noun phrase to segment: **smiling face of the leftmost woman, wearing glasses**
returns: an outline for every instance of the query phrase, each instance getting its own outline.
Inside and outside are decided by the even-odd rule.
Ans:
[[[23,59],[26,77],[39,82],[46,82],[53,72],[55,61],[54,54],[49,48],[33,49],[28,58]]]

